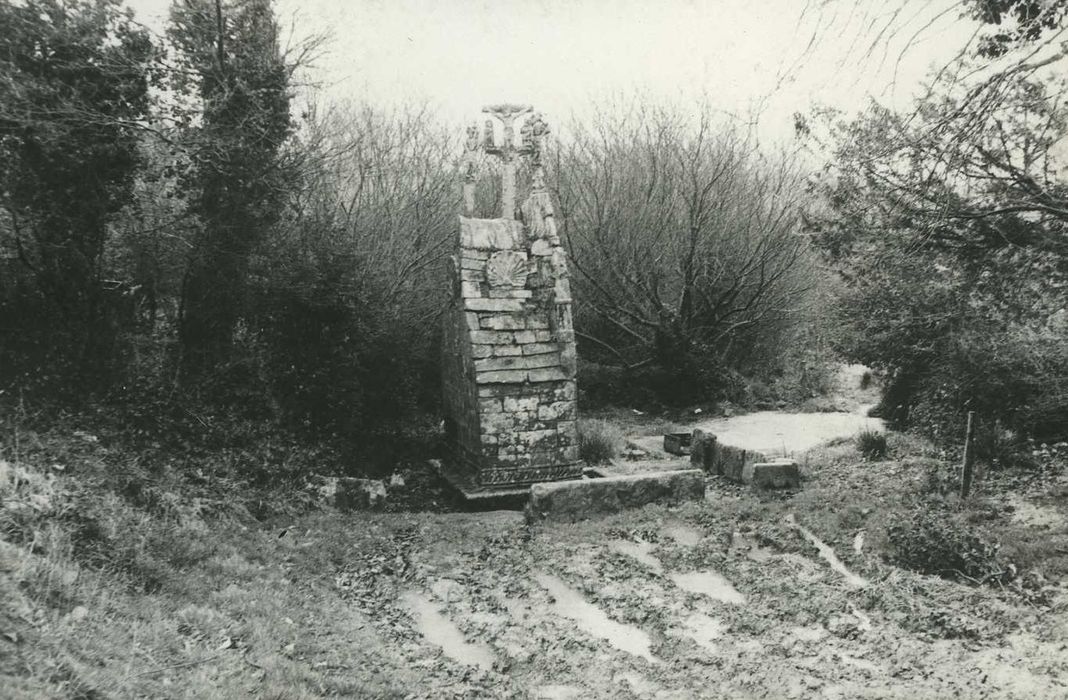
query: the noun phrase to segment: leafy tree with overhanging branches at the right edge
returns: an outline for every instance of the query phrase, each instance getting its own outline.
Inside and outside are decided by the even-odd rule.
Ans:
[[[1021,41],[1034,57],[1037,35]],[[847,280],[843,349],[888,370],[902,422],[955,434],[973,409],[1063,435],[1068,82],[1050,50],[963,59],[911,112],[873,105],[833,128],[831,213],[813,228]]]

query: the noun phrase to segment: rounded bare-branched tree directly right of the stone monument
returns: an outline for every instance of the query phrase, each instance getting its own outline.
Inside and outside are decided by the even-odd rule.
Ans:
[[[587,357],[738,364],[796,318],[811,287],[802,172],[710,109],[602,112],[555,180]]]

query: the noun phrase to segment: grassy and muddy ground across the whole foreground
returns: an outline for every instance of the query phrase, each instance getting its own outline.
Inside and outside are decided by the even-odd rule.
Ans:
[[[888,558],[888,523],[954,469],[914,438],[890,452],[838,440],[797,493],[713,477],[704,501],[574,525],[183,516],[190,564],[152,591],[0,542],[0,696],[1068,697],[1068,472],[938,497],[1018,566],[976,585]]]

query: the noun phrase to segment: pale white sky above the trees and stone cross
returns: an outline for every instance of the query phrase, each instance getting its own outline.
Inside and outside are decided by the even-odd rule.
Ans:
[[[169,0],[128,0],[160,29]],[[607,95],[706,98],[766,109],[785,135],[795,111],[904,106],[975,22],[959,0],[278,0],[299,40],[329,41],[312,79],[328,97],[427,100],[451,122],[483,105],[533,104],[551,123]],[[906,48],[908,49],[906,50]],[[770,95],[770,97],[769,97]]]

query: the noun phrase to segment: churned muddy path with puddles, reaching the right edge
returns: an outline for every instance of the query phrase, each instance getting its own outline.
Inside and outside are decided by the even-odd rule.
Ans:
[[[383,517],[412,533],[409,575],[362,596],[343,574],[340,591],[419,675],[408,697],[1068,695],[1063,612],[835,555],[800,519],[747,525],[753,503],[716,496],[728,505],[533,531],[514,513]],[[946,638],[939,616],[1012,622]]]

